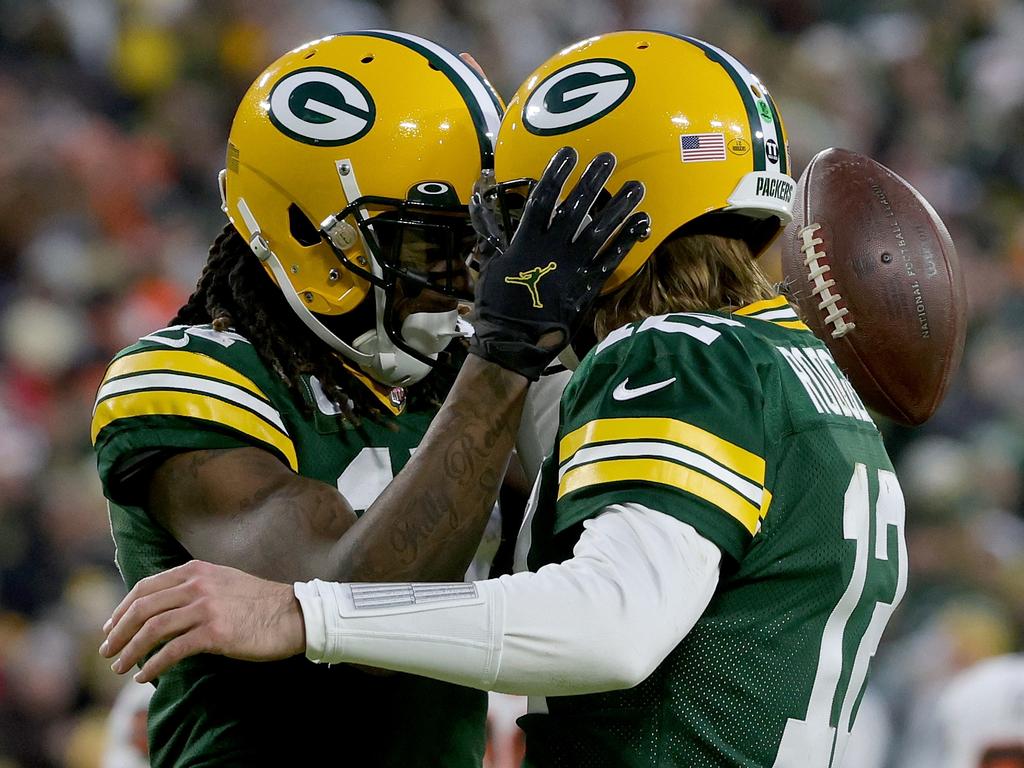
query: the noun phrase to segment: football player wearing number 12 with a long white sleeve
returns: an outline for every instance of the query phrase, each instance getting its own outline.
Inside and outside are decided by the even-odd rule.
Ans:
[[[503,120],[497,184],[480,201],[494,201],[492,263],[562,143],[613,153],[612,184],[644,182],[651,237],[597,305],[600,343],[562,396],[521,571],[445,592],[290,587],[193,563],[128,596],[109,654],[134,662],[170,636],[526,693],[530,766],[841,764],[906,586],[904,507],[871,418],[758,266],[791,219],[779,112],[743,65],[699,40],[623,32],[569,46]],[[522,307],[545,266],[513,286]],[[138,603],[193,609],[171,596],[193,579],[225,595],[214,616],[292,594],[298,605],[272,649],[211,639],[209,618],[147,628],[169,614]],[[140,679],[174,662],[165,650]]]

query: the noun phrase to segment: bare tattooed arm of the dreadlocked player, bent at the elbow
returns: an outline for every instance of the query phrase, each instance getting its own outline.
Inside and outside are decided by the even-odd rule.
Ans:
[[[264,579],[461,579],[498,496],[526,380],[470,357],[406,468],[356,520],[329,484],[255,447],[154,473],[148,511],[196,558]]]

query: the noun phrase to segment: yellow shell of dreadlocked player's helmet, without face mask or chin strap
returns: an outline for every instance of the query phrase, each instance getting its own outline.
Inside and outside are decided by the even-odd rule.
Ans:
[[[342,167],[364,197],[442,191],[439,202],[465,206],[481,169],[493,167],[501,109],[482,78],[422,38],[373,31],[306,43],[267,67],[242,99],[225,212],[250,244],[263,238],[309,310],[348,312],[370,284],[316,231],[354,202]],[[370,271],[371,254],[349,233],[345,258]]]

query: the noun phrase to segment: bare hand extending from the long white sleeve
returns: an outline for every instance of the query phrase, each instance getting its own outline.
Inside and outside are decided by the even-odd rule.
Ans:
[[[143,579],[103,626],[99,653],[123,675],[166,643],[135,675],[144,683],[197,653],[249,662],[305,651],[302,610],[291,585],[201,560]]]

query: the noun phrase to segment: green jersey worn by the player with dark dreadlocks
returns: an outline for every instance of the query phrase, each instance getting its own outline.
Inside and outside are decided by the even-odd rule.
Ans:
[[[115,357],[92,434],[129,587],[190,559],[119,486],[133,460],[154,450],[257,446],[336,485],[361,512],[404,466],[434,416],[410,407],[394,429],[369,420],[356,429],[314,380],[303,388],[306,403],[246,339],[209,326],[159,331]],[[484,693],[424,678],[302,657],[251,664],[200,655],[159,679],[150,745],[154,766],[296,765],[300,755],[347,764],[358,754],[367,766],[468,767],[482,761],[485,718]]]

